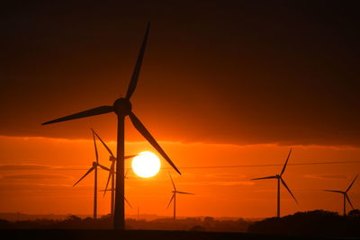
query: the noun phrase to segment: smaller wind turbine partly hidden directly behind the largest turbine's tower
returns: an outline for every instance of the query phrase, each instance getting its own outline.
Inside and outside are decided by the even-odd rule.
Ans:
[[[112,165],[110,166],[109,176],[108,176],[107,182],[106,182],[106,187],[105,187],[105,190],[103,191],[103,196],[105,196],[105,194],[106,194],[107,187],[108,187],[110,179],[111,179],[112,180],[112,189],[111,189],[111,191],[112,191],[112,199],[111,199],[111,202],[110,202],[110,204],[111,204],[110,211],[111,211],[111,214],[113,215],[113,207],[114,207],[114,203],[115,203],[114,200],[115,200],[115,164],[116,164],[116,157],[113,156],[112,150],[110,149],[110,147],[108,147],[105,144],[103,139],[100,138],[100,136],[94,131],[94,129],[91,129],[91,130],[93,131],[96,138],[98,138],[102,142],[103,147],[105,147],[106,150],[109,152],[109,154],[110,154],[109,160],[112,161]],[[131,157],[134,157],[134,156],[138,156],[138,155],[124,156],[124,159],[128,159],[128,158],[131,158]],[[126,179],[126,174],[127,173],[128,172],[125,173],[125,176],[124,176],[125,179]],[[126,199],[124,199],[124,200],[127,201]],[[128,202],[128,204],[129,204],[129,206],[131,206],[129,202]]]

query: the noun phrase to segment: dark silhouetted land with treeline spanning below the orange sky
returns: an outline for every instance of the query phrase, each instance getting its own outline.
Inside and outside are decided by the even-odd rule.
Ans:
[[[260,221],[206,218],[126,219],[126,231],[112,230],[112,217],[0,219],[0,239],[360,239],[360,210],[347,216],[324,210],[297,212],[283,218]],[[169,239],[171,238],[171,239]]]

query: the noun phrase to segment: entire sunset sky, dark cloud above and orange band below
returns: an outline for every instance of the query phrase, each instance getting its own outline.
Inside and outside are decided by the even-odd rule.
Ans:
[[[181,167],[283,164],[291,146],[293,163],[360,160],[357,9],[339,1],[3,4],[0,211],[91,211],[92,177],[71,185],[82,174],[77,168],[94,160],[90,128],[114,148],[115,115],[40,123],[123,96],[151,21],[131,102],[184,172],[175,177],[179,186],[196,193],[179,200],[180,215],[273,216],[275,182],[249,179],[281,167]],[[130,121],[125,130],[126,153],[154,151]],[[301,205],[284,192],[284,213],[340,210],[340,197],[320,190],[345,188],[359,164],[288,171],[286,182]],[[127,196],[144,212],[170,215],[166,177],[166,169],[148,181],[132,176]],[[168,192],[158,192],[159,186]],[[356,208],[358,192],[357,182]],[[108,211],[107,202],[99,200],[99,212]]]

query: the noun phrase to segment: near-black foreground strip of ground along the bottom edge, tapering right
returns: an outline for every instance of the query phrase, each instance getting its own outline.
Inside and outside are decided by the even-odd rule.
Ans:
[[[2,239],[139,239],[139,240],[202,240],[202,239],[329,239],[305,236],[266,236],[244,233],[165,231],[165,230],[109,230],[109,229],[14,229],[1,230]]]

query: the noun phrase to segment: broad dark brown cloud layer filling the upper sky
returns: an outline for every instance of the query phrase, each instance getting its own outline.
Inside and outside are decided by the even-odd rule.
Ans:
[[[8,2],[2,135],[116,139],[113,115],[40,122],[123,95],[151,20],[133,106],[157,138],[360,145],[356,1]]]

